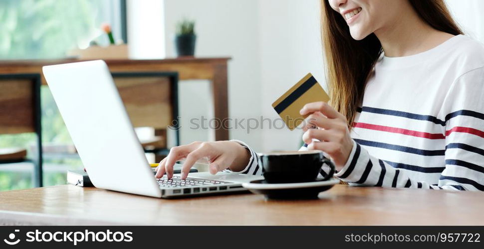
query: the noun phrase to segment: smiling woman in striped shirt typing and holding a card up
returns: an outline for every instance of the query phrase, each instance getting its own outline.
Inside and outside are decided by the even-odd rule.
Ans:
[[[350,185],[484,190],[484,46],[462,34],[444,0],[322,0],[331,103],[302,115],[307,148],[325,152]],[[317,128],[314,128],[317,126]],[[261,174],[241,141],[178,146],[157,177]]]

